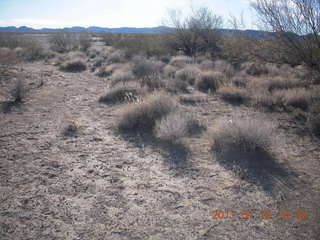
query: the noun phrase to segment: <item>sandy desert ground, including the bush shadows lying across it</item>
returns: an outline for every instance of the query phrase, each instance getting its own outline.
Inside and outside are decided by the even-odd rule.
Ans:
[[[319,239],[320,140],[304,113],[230,103],[194,84],[172,91],[137,87],[135,80],[141,98],[105,103],[101,96],[131,84],[114,80],[115,72],[97,75],[111,65],[130,68],[130,61],[114,60],[115,53],[98,39],[86,52],[8,66],[0,95],[1,240]],[[63,70],[74,59],[86,69]],[[202,67],[211,68],[210,62]],[[23,100],[10,105],[8,89],[19,79]],[[157,94],[170,96],[203,129],[172,141],[147,130],[118,130],[125,111]],[[256,117],[275,127],[268,154],[228,152],[228,161],[215,153],[221,124],[244,118],[250,125]],[[254,163],[248,166],[236,163],[249,158]],[[217,210],[224,218],[215,217]]]

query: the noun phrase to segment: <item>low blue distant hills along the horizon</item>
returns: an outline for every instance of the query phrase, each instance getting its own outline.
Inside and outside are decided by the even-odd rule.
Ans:
[[[140,33],[140,34],[161,34],[170,32],[172,28],[159,26],[151,28],[133,28],[133,27],[122,27],[122,28],[103,28],[103,27],[70,27],[70,28],[42,28],[33,29],[26,26],[22,27],[0,27],[0,32],[95,32],[95,33]],[[276,38],[275,33],[259,31],[259,30],[233,30],[233,29],[220,29],[225,35],[243,35],[251,38],[260,39],[274,39]],[[297,35],[295,37],[298,38]]]

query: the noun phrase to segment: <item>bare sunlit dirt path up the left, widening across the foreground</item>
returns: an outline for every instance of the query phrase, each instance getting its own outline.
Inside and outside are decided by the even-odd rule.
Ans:
[[[29,83],[44,84],[32,87],[21,109],[0,115],[1,239],[304,239],[306,232],[312,239],[316,234],[315,218],[211,219],[216,209],[279,210],[283,194],[268,194],[224,169],[209,154],[206,135],[188,140],[187,167],[170,164],[163,149],[115,135],[117,106],[98,103],[106,83],[89,72],[62,73],[40,63],[23,68]],[[208,123],[234,111],[214,97],[199,109]],[[60,134],[65,119],[78,122],[77,138]],[[304,154],[301,149],[294,153]],[[319,150],[307,152],[313,160],[302,172],[318,167]],[[292,159],[298,166],[300,158]],[[318,194],[317,172],[310,175],[308,193]],[[294,202],[293,196],[286,198]]]

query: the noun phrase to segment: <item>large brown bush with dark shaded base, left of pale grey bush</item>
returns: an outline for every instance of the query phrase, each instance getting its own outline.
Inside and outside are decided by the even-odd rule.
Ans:
[[[157,120],[161,120],[177,108],[167,94],[156,93],[139,103],[125,106],[118,122],[121,132],[152,133]]]

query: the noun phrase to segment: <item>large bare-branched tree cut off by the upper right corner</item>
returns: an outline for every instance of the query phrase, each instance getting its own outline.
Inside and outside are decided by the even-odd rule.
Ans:
[[[278,34],[293,58],[320,71],[319,0],[256,0],[252,7],[267,30]]]

